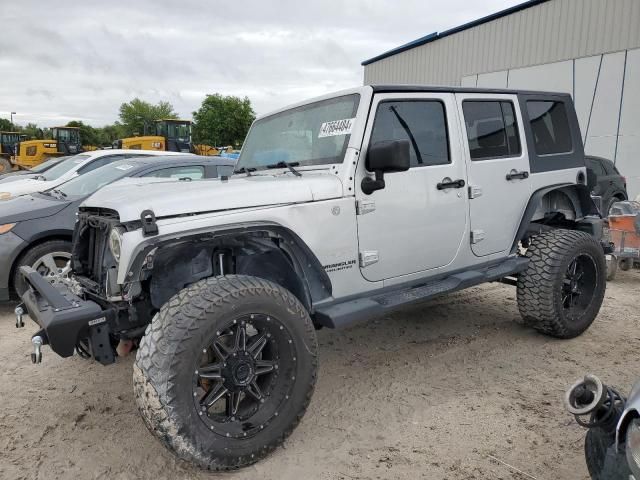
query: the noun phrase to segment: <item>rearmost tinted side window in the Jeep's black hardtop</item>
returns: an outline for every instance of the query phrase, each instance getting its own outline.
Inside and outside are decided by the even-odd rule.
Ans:
[[[572,150],[571,129],[564,103],[529,100],[527,112],[538,155],[568,153]]]

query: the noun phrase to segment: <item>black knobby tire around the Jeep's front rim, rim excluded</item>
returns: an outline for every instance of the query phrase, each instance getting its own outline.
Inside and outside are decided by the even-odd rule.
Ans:
[[[264,428],[246,438],[229,438],[214,431],[217,426],[206,423],[208,413],[204,418],[196,407],[194,365],[198,368],[207,338],[218,338],[217,330],[231,319],[253,314],[271,315],[266,318],[272,322],[278,319],[280,327],[269,334],[271,341],[284,332],[279,335],[287,335],[285,344],[294,349],[294,364],[286,372],[280,368],[289,394],[280,396],[282,408]],[[291,434],[311,400],[317,365],[315,329],[300,301],[275,283],[228,275],[197,282],[160,309],[140,343],[134,393],[148,429],[179,458],[209,470],[233,470],[267,456]],[[275,396],[272,393],[267,402]]]

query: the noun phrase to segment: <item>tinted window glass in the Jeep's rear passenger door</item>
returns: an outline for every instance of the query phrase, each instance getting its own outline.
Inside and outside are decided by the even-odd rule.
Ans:
[[[513,103],[465,100],[462,111],[471,160],[520,155],[522,150]]]

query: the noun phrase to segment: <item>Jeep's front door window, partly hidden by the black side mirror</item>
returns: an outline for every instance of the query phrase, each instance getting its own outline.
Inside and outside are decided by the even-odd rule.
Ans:
[[[371,144],[385,140],[409,140],[411,167],[451,162],[447,119],[439,100],[380,102]]]

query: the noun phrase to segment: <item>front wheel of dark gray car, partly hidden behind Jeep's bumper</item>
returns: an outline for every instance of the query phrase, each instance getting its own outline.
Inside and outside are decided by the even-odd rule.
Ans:
[[[49,240],[27,250],[14,267],[13,288],[18,295],[27,290],[19,270],[23,265],[33,268],[52,284],[59,283],[71,274],[71,242]]]

